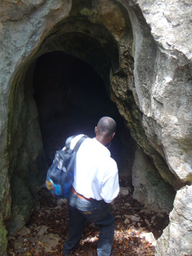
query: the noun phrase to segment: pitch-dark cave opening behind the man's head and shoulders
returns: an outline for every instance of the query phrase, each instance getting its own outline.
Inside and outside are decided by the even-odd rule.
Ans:
[[[46,53],[37,59],[33,87],[49,165],[68,136],[94,137],[98,120],[110,116],[117,122],[111,156],[120,174],[131,178],[135,143],[104,82],[88,63],[60,51]]]

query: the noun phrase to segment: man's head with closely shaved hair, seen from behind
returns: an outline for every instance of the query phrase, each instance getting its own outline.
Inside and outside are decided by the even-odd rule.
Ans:
[[[102,117],[95,127],[95,138],[107,145],[113,139],[116,131],[116,121],[111,117]]]

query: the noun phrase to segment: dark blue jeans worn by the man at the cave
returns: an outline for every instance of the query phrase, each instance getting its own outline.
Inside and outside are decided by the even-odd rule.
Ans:
[[[95,223],[100,228],[97,244],[98,256],[112,256],[114,238],[114,217],[110,212],[109,204],[104,200],[84,200],[73,194],[68,198],[69,204],[69,231],[68,238],[63,245],[64,255],[69,255],[79,246],[82,233],[87,221]]]

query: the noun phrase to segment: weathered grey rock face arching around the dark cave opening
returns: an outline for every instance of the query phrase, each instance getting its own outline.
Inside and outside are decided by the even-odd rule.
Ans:
[[[167,197],[161,197],[156,209],[166,204],[168,212],[170,191],[191,184],[191,14],[190,0],[0,4],[0,255],[6,255],[7,230],[21,228],[38,207],[37,191],[47,168],[33,84],[36,61],[45,53],[62,51],[78,57],[103,80],[143,150],[136,151],[133,165],[136,198],[152,207],[149,195],[155,198],[164,190]],[[142,180],[137,180],[140,169]],[[180,190],[184,198],[189,188]],[[177,207],[175,203],[172,214]],[[185,214],[186,207],[181,217],[187,227],[191,219],[185,220]],[[177,225],[181,227],[180,222]],[[165,229],[165,236],[168,232]],[[169,232],[164,255],[171,253],[172,236]],[[185,236],[191,238],[190,229]],[[156,254],[160,249],[157,246]],[[179,249],[185,254],[191,247],[186,243]]]

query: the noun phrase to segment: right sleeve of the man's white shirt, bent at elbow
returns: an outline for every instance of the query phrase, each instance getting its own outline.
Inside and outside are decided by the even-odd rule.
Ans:
[[[111,159],[113,160],[113,159]],[[119,194],[119,175],[117,164],[114,161],[113,165],[108,168],[107,174],[104,176],[101,184],[101,197],[105,203],[111,203]]]

